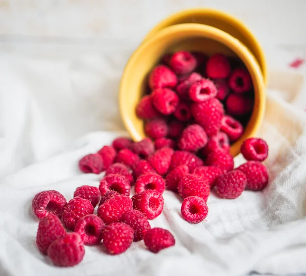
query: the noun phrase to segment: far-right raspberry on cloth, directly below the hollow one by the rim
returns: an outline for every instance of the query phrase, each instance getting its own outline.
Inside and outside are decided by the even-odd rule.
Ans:
[[[269,173],[264,164],[258,161],[248,161],[239,166],[238,170],[246,176],[246,189],[260,191],[268,185]]]

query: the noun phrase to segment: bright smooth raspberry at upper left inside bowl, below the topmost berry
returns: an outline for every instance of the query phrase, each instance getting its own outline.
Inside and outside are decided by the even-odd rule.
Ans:
[[[177,84],[175,74],[165,65],[156,66],[149,75],[149,87],[151,89],[169,87]]]

